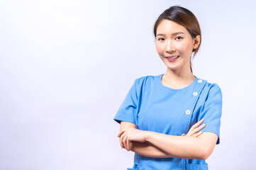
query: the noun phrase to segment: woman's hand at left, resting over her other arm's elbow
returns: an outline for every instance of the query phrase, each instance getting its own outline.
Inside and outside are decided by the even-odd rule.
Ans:
[[[122,148],[126,148],[127,151],[130,151],[131,142],[146,142],[147,132],[145,130],[138,130],[136,128],[128,128],[126,130],[121,130],[118,133],[120,137],[120,145]]]

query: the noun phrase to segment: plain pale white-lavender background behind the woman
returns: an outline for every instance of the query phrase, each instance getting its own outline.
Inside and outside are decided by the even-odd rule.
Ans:
[[[181,5],[199,20],[194,75],[223,92],[209,169],[254,169],[255,1],[0,1],[0,169],[126,169],[113,116],[134,79],[166,71],[152,28]]]

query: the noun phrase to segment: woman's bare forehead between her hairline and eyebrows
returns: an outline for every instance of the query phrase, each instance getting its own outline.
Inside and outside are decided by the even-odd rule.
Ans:
[[[176,33],[176,32],[184,32],[185,34],[188,33],[187,29],[184,28],[184,26],[181,26],[174,21],[170,20],[163,20],[160,22],[160,24],[157,26],[157,34],[158,33]]]

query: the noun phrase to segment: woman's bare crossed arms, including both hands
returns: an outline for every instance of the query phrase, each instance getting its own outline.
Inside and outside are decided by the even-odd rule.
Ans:
[[[121,147],[145,157],[207,159],[213,152],[218,135],[213,132],[199,132],[204,128],[201,125],[203,121],[193,125],[184,136],[138,130],[134,123],[121,122],[118,137]]]

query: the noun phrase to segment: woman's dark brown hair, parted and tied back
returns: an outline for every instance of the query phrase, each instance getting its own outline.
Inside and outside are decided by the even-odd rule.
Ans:
[[[184,26],[184,28],[187,29],[189,34],[192,38],[196,38],[196,35],[200,35],[201,39],[201,29],[199,26],[199,21],[197,21],[196,16],[194,16],[194,13],[189,11],[187,8],[184,8],[182,6],[171,6],[170,8],[167,8],[158,18],[157,21],[155,21],[154,26],[154,35],[156,37],[157,34],[157,26],[160,24],[162,20],[170,20],[174,21],[175,23]],[[201,40],[199,42],[199,46],[196,49],[193,49],[192,52],[194,52],[193,58],[196,55],[196,53],[199,51],[199,47],[201,45]],[[190,69],[192,72],[191,62],[190,62]]]

